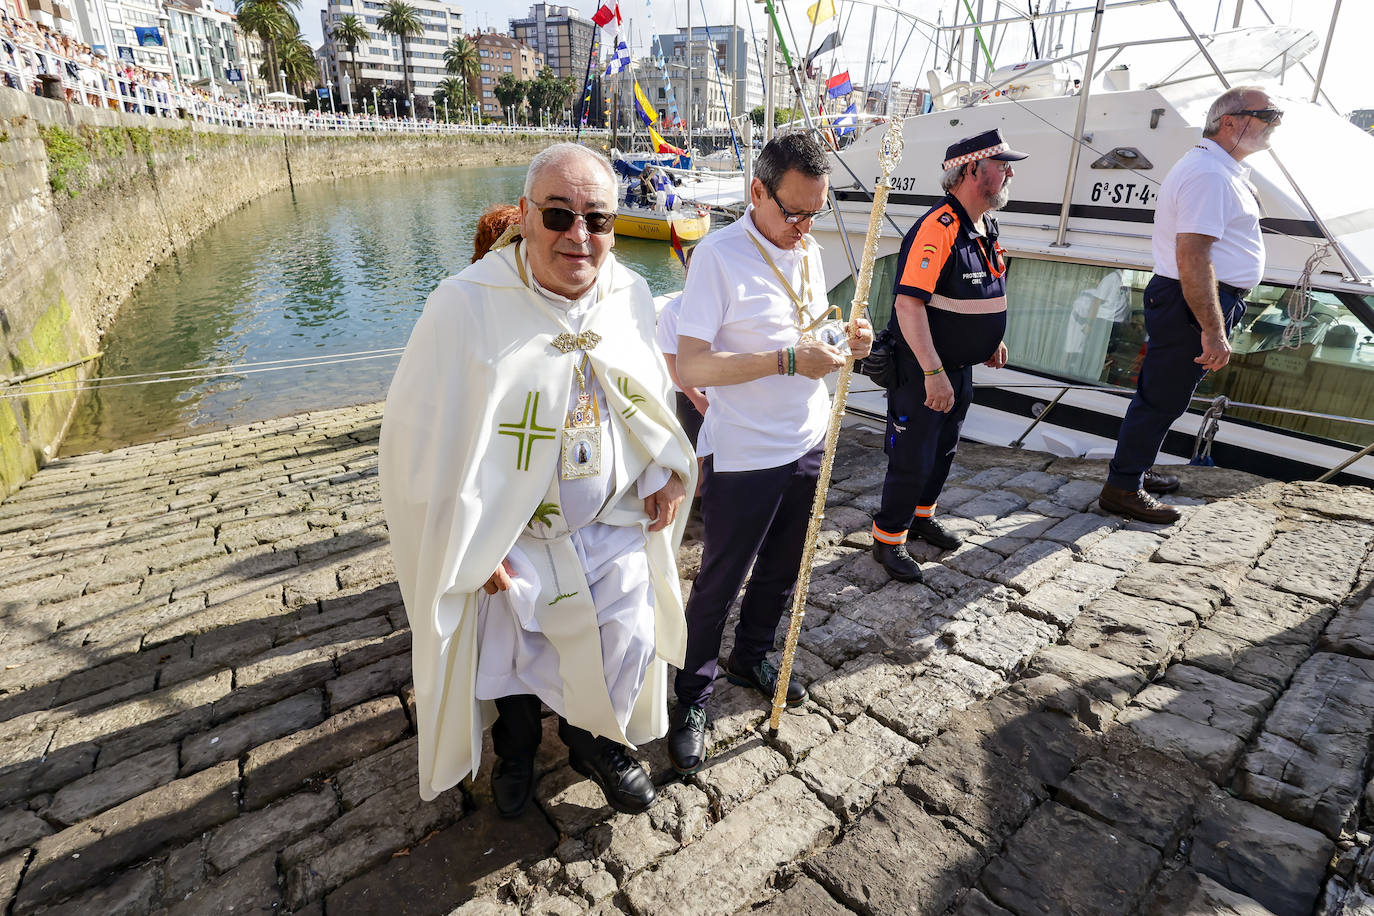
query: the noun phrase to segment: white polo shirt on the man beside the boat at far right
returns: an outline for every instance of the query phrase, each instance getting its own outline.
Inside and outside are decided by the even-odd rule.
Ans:
[[[1250,169],[1206,137],[1165,176],[1154,207],[1154,272],[1172,280],[1179,279],[1179,232],[1216,239],[1212,269],[1219,283],[1249,290],[1264,276],[1260,201]]]

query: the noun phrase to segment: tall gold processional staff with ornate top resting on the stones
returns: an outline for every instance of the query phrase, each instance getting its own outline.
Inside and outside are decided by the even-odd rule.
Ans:
[[[882,213],[888,206],[888,179],[901,162],[901,118],[893,118],[882,136],[878,165],[882,177],[872,191],[872,213],[868,214],[868,235],[863,242],[863,262],[855,279],[855,298],[849,305],[851,327],[868,310],[868,287],[872,284],[872,261],[878,254],[878,232]],[[835,220],[844,218],[835,211]],[[787,702],[787,681],[791,678],[791,659],[797,654],[797,636],[801,634],[801,618],[807,614],[807,592],[811,588],[811,560],[816,553],[816,537],[820,522],[826,518],[826,493],[830,490],[830,471],[835,463],[835,442],[840,441],[840,423],[845,417],[845,401],[849,398],[849,376],[853,375],[853,356],[845,357],[835,380],[835,401],[830,409],[830,427],[826,430],[826,450],[820,457],[820,477],[816,479],[816,499],[811,504],[811,520],[807,525],[807,547],[801,555],[801,569],[797,573],[797,589],[791,599],[791,619],[787,623],[787,641],[782,650],[782,665],[778,670],[778,688],[774,692],[772,714],[768,717],[768,733],[776,737],[778,724]]]

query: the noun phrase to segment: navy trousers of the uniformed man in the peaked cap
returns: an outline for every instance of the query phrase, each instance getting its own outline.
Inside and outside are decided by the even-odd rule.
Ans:
[[[954,387],[948,413],[926,407],[926,383],[919,367],[888,396],[888,475],[882,481],[882,505],[872,523],[888,534],[903,534],[916,518],[916,508],[933,507],[949,477],[959,431],[973,404],[973,367],[945,367]],[[922,512],[925,514],[925,512]]]

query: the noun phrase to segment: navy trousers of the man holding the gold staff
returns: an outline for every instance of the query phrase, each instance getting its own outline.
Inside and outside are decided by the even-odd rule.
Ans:
[[[820,452],[816,446],[790,464],[758,471],[716,471],[714,461],[706,459],[701,490],[705,544],[687,599],[687,658],[673,683],[680,703],[698,706],[710,696],[725,618],[750,563],[754,571],[739,604],[734,658],[741,666],[753,666],[772,648],[801,570]]]

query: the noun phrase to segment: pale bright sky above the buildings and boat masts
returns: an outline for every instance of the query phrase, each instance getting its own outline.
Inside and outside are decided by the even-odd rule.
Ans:
[[[816,26],[815,36],[811,36],[811,22],[807,19],[807,7],[813,0],[780,0],[779,12],[783,32],[791,30],[796,43],[789,37],[789,44],[808,47],[819,44],[820,38],[829,34],[837,25],[842,26],[842,43],[837,55],[837,70],[848,69],[856,84],[863,82],[866,67],[871,67],[870,82],[886,82],[889,78],[900,81],[903,85],[925,85],[925,73],[930,69],[933,32],[925,25],[915,25],[910,18],[899,16],[890,7],[878,8],[877,29],[874,25],[874,7],[837,0],[838,16]],[[878,0],[890,4],[892,0]],[[1112,0],[1109,0],[1110,3]],[[1330,96],[1331,103],[1341,111],[1349,113],[1355,108],[1374,108],[1374,82],[1369,78],[1369,66],[1364,58],[1369,56],[1364,36],[1374,34],[1374,3],[1370,0],[1176,0],[1179,10],[1187,16],[1194,30],[1204,33],[1215,29],[1230,29],[1237,15],[1239,4],[1241,26],[1267,25],[1265,11],[1281,25],[1294,25],[1311,29],[1316,34],[1318,47],[1304,62],[1315,74],[1320,62],[1326,43],[1327,26],[1333,8],[1340,4],[1337,29],[1331,38],[1331,48],[1326,65],[1322,87]],[[750,18],[753,29],[763,38],[764,15],[763,4],[753,0],[620,0],[621,15],[629,21],[632,37],[632,51],[635,55],[647,55],[651,36],[655,33],[671,33],[687,25],[687,4],[691,3],[691,22],[699,26],[706,25],[728,26],[738,22],[749,29]],[[1029,3],[1036,3],[1041,10],[1048,10],[1051,0],[899,0],[893,5],[900,5],[903,12],[919,16],[929,23],[949,22],[955,5],[965,4],[974,10],[982,7],[984,19],[1010,18],[1024,11]],[[1088,44],[1088,29],[1091,26],[1091,11],[1094,0],[1057,0],[1058,8],[1081,8],[1087,12],[1065,19],[1061,34],[1065,49],[1070,45],[1085,49]],[[322,0],[304,0],[301,7],[302,30],[313,45],[319,45]],[[463,8],[463,21],[470,30],[496,29],[506,32],[511,12],[525,15],[529,4],[525,0],[458,0],[456,5]],[[596,0],[577,0],[566,3],[584,16],[591,18],[596,8]],[[960,15],[960,21],[967,21],[967,14]],[[1076,23],[1076,26],[1074,26]],[[1077,29],[1077,32],[1074,32]],[[868,55],[870,32],[877,36],[872,55]],[[1041,32],[1043,34],[1043,32]],[[1186,34],[1173,7],[1168,0],[1158,0],[1143,5],[1109,10],[1103,16],[1102,43],[1118,43],[1145,37],[1168,37]],[[908,40],[910,36],[910,40]],[[1002,27],[996,36],[988,30],[985,40],[993,44],[993,56],[999,63],[1014,63],[1033,58],[1029,30],[1024,26]],[[1074,43],[1076,37],[1076,43]],[[943,38],[948,44],[948,33]],[[966,45],[967,47],[967,45]],[[1043,51],[1043,48],[1041,48]],[[1171,45],[1167,49],[1151,49],[1157,63],[1164,63],[1176,55],[1183,54],[1182,45]],[[1362,56],[1363,55],[1363,56]],[[967,62],[969,52],[960,55],[960,60]],[[870,60],[875,63],[870,63]],[[893,63],[896,60],[896,63]],[[941,63],[944,60],[941,59]],[[1143,63],[1142,63],[1143,66]],[[890,73],[889,73],[890,71]],[[1311,85],[1311,84],[1308,84]],[[1307,95],[1307,92],[1298,92]]]

